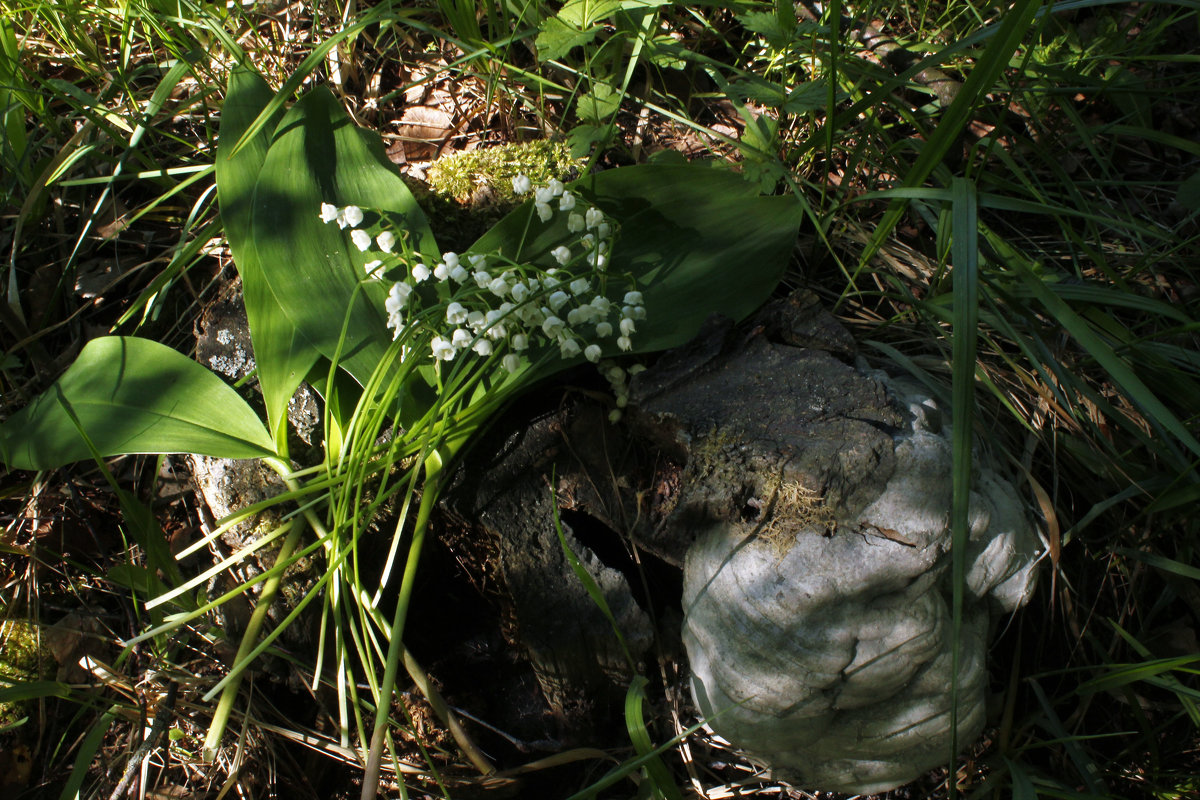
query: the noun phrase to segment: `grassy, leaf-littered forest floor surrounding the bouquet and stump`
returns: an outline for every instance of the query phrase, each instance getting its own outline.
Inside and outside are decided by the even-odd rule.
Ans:
[[[816,293],[875,366],[946,397],[976,387],[977,433],[1024,481],[1050,553],[1037,596],[992,648],[984,738],[953,770],[880,796],[1200,790],[1194,5],[116,5],[0,1],[0,419],[98,336],[194,354],[200,320],[236,296],[212,166],[239,60],[275,90],[332,89],[384,138],[446,249],[511,207],[494,186],[464,182],[496,167],[487,154],[500,145],[552,142],[530,152],[568,176],[722,162],[805,207],[780,294]],[[1026,30],[1003,28],[1025,11]],[[966,215],[953,196],[964,180],[978,198]],[[972,331],[953,302],[964,225],[982,254]],[[966,335],[978,360],[956,367]],[[152,511],[175,553],[216,523],[185,459],[5,469],[0,795],[359,793],[365,745],[335,735],[311,688],[314,654],[284,648],[272,678],[247,681],[250,711],[206,763],[214,704],[202,696],[235,643],[121,646],[156,621],[131,507]],[[503,612],[472,576],[486,558],[452,531],[432,547],[428,579],[462,601],[461,622],[444,608],[416,627],[442,664],[520,661],[493,650]],[[434,682],[478,679],[442,669]],[[649,670],[642,727],[667,745],[670,786],[638,768],[589,789],[641,752],[619,729],[587,752],[532,757],[476,726],[509,747],[511,770],[480,775],[404,686],[406,756],[420,765],[389,775],[385,795],[833,796],[770,780],[710,733],[683,735],[696,720],[684,670]]]

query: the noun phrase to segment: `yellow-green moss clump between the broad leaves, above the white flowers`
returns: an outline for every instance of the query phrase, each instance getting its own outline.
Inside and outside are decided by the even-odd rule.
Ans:
[[[409,182],[409,188],[425,209],[438,246],[461,253],[521,203],[512,193],[517,174],[534,184],[566,181],[576,178],[581,163],[564,143],[505,144],[439,158],[430,167],[428,185]]]

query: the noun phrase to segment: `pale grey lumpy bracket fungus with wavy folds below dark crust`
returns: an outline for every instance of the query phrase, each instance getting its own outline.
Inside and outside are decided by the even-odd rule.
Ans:
[[[800,528],[781,546],[726,521],[685,561],[683,639],[701,712],[806,788],[887,790],[950,751],[949,431],[932,401],[872,378],[908,425],[890,479],[851,524]],[[990,619],[1028,600],[1039,551],[1020,495],[986,465],[970,528],[960,745],[984,727]]]

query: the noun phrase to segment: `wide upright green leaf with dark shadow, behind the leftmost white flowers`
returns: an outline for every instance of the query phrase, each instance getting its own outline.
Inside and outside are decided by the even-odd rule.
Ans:
[[[367,254],[349,229],[325,224],[320,204],[389,212],[416,251],[439,257],[428,222],[376,133],[354,126],[324,88],[300,98],[276,128],[251,213],[257,260],[283,313],[322,355],[364,383],[390,341],[386,285],[364,282]],[[344,325],[344,342],[342,332]]]

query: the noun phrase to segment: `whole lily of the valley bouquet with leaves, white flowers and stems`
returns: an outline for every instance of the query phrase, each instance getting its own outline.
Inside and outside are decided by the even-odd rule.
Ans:
[[[680,344],[713,313],[754,311],[786,265],[799,213],[793,199],[758,197],[712,166],[631,167],[546,186],[514,174],[529,200],[467,252],[443,252],[378,136],[355,127],[324,89],[289,109],[286,100],[235,72],[216,163],[262,409],[164,345],[102,337],[0,426],[0,457],[26,470],[170,452],[270,464],[289,491],[274,500],[280,529],[265,536],[282,543],[250,582],[262,593],[228,674],[204,694],[217,700],[205,753],[222,745],[246,668],[319,602],[326,636],[313,680],[336,687],[342,744],[358,747],[373,796],[385,753],[396,752],[400,668],[428,685],[404,648],[404,620],[455,458],[498,409],[576,365],[599,362],[617,390],[617,419],[625,371],[611,360]],[[287,451],[287,405],[302,380],[325,399],[324,459],[306,470]],[[358,543],[384,521],[394,533],[380,571],[360,563]],[[197,600],[210,576],[184,575],[161,531],[139,545],[156,624],[131,643],[220,636],[211,613],[228,596]],[[264,636],[266,608],[301,558],[325,569]],[[469,741],[460,745],[492,769]]]

